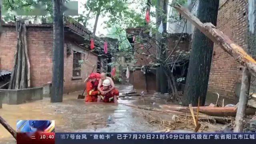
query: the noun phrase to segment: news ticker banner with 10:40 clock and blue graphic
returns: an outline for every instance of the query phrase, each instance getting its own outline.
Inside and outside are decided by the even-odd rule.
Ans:
[[[19,120],[17,144],[256,144],[256,133],[55,133],[54,120]]]

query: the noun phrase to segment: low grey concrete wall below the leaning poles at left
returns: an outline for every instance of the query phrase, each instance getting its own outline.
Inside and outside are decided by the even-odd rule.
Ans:
[[[22,104],[27,100],[42,100],[43,88],[26,88],[20,90],[0,89],[2,102],[7,104]]]

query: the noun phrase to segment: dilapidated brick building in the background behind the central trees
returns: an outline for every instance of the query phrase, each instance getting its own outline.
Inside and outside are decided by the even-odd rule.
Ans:
[[[129,28],[126,30],[128,32],[128,40],[133,45],[134,49],[134,59],[136,62],[133,64],[135,70],[130,73],[130,82],[134,85],[134,88],[139,91],[145,91],[149,93],[156,92],[156,67],[154,64],[154,58],[150,58],[146,55],[140,54],[149,54],[156,56],[156,42],[154,39],[149,38],[148,33],[143,33],[142,28]],[[132,37],[134,34],[142,34],[143,33],[143,42],[141,42],[140,38],[135,39],[134,42],[132,42]],[[154,36],[153,36],[154,37]],[[178,42],[178,39],[180,37],[180,34],[168,34],[167,36],[167,51],[166,51],[166,57],[172,52],[174,46]],[[177,46],[176,50],[184,50],[189,51],[189,42],[190,42],[190,36],[188,34],[183,34],[182,40]],[[174,52],[175,55],[175,52]],[[184,65],[185,67],[188,66],[188,63]],[[142,68],[144,67],[144,68]],[[145,73],[142,72],[142,69],[144,69]],[[177,78],[180,77],[181,68],[176,68],[174,70],[174,76]],[[186,75],[187,68],[184,68],[184,73],[181,74],[182,76]],[[166,81],[167,83],[167,81]]]

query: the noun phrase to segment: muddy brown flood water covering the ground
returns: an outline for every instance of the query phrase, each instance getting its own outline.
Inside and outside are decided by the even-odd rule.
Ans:
[[[120,93],[132,90],[130,85],[118,86]],[[149,124],[141,114],[143,110],[124,104],[154,107],[165,104],[164,99],[118,100],[119,104],[85,103],[77,99],[81,92],[65,94],[62,103],[50,103],[50,98],[19,105],[3,104],[2,116],[14,129],[17,120],[55,120],[55,132],[156,132],[157,124]],[[109,121],[110,122],[107,122]],[[92,124],[94,123],[94,124]],[[16,141],[0,125],[0,144],[14,144]]]

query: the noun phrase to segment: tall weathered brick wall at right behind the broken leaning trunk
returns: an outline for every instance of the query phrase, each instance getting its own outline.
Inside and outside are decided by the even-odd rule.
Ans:
[[[247,0],[227,0],[218,11],[217,27],[243,48],[246,48],[247,6]],[[242,66],[216,44],[213,50],[208,92],[218,92],[236,102]]]

